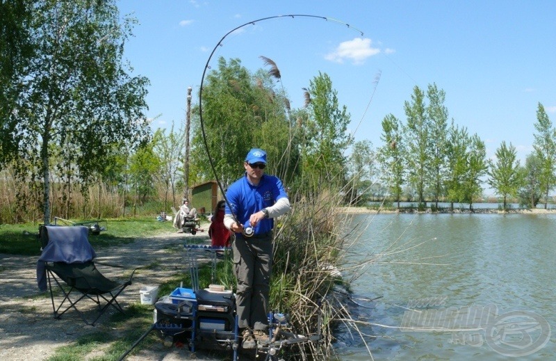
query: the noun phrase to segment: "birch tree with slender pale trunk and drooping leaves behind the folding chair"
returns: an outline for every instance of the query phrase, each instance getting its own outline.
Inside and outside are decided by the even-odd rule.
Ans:
[[[42,190],[49,223],[51,159],[73,152],[87,184],[115,145],[142,141],[148,81],[124,67],[133,19],[120,24],[115,1],[40,0],[32,11],[35,53],[18,98],[18,127],[9,136],[21,138],[19,178]]]

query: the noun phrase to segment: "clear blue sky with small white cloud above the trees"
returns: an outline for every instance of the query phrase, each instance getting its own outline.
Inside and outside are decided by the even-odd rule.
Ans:
[[[450,118],[477,133],[493,157],[502,141],[518,157],[532,152],[537,104],[556,122],[556,1],[215,1],[120,0],[122,15],[139,24],[126,45],[134,74],[151,81],[152,125],[185,120],[186,89],[193,104],[211,58],[240,58],[251,72],[271,58],[294,108],[303,87],[327,73],[351,114],[357,141],[375,147],[381,122],[393,113],[405,122],[404,102],[414,86],[445,90]],[[337,19],[340,22],[335,22]],[[345,24],[350,24],[348,28]],[[363,35],[361,35],[361,32]],[[378,83],[375,83],[380,74]],[[373,95],[374,92],[374,95]]]

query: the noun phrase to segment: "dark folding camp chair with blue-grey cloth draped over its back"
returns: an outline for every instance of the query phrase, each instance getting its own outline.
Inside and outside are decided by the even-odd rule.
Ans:
[[[95,326],[95,322],[110,306],[124,313],[116,298],[131,284],[135,270],[125,282],[115,282],[104,277],[92,261],[96,254],[88,241],[88,232],[88,227],[84,226],[42,226],[40,238],[46,246],[38,262],[37,277],[39,288],[43,288],[45,285],[41,285],[41,282],[44,283],[44,276],[41,273],[46,273],[54,318],[60,319],[65,312],[74,309],[85,323]],[[58,305],[54,288],[63,294]],[[101,298],[106,302],[102,307]],[[92,322],[77,308],[77,304],[84,299],[92,300],[99,307],[99,314]]]

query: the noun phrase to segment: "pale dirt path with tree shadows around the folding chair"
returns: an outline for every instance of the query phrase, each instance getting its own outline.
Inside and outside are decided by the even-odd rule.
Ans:
[[[205,230],[208,225],[202,225]],[[117,300],[123,307],[140,302],[140,289],[157,285],[184,269],[186,237],[202,239],[210,244],[206,232],[195,236],[168,232],[163,236],[136,239],[133,243],[113,248],[97,249],[97,263],[123,265],[126,268],[150,266],[137,271],[133,284]],[[38,291],[36,282],[37,257],[0,254],[0,360],[47,360],[56,348],[71,344],[82,335],[99,330],[118,332],[103,326],[103,315],[95,327],[86,326],[68,311],[60,320],[52,316],[49,294]],[[122,275],[122,269],[99,269],[108,278]],[[110,271],[112,271],[112,273]],[[212,360],[209,355],[192,355],[187,348],[165,348],[161,342],[149,351],[129,356],[126,360]]]

